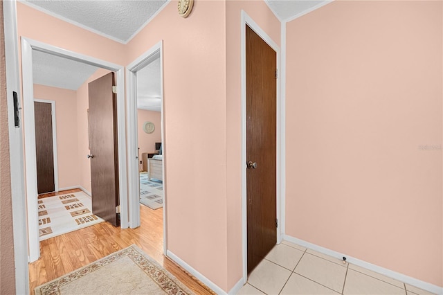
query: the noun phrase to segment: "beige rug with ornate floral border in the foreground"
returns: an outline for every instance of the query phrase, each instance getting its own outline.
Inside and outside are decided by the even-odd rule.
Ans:
[[[194,294],[136,245],[35,288],[35,294]]]

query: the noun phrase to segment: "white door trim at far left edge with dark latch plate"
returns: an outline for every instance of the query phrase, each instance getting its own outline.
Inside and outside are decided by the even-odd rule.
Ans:
[[[16,1],[3,1],[3,24],[5,33],[12,231],[14,234],[15,293],[29,294],[28,233],[26,231],[26,205],[24,202],[23,120],[20,117],[20,127],[16,128],[13,110],[14,100],[12,97],[12,91],[15,91],[20,101],[21,88],[19,80]],[[19,103],[21,104],[21,101]]]

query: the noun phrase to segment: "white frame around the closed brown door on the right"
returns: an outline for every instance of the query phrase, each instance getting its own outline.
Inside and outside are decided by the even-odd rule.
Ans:
[[[257,35],[259,35],[266,44],[271,46],[277,55],[277,69],[280,71],[280,47],[267,35],[258,24],[253,21],[249,15],[242,10],[242,21],[241,21],[241,70],[242,70],[242,257],[243,257],[243,283],[246,283],[248,278],[248,233],[247,233],[247,202],[246,202],[246,25],[252,28]],[[278,219],[278,229],[277,229],[277,244],[280,244],[282,241],[282,212],[284,212],[284,208],[282,208],[281,199],[282,199],[282,188],[284,188],[284,163],[282,159],[284,159],[284,116],[282,109],[282,97],[281,93],[281,80],[280,73],[278,73],[277,80],[277,159],[276,159],[276,168],[277,168],[277,191],[275,192],[276,203],[277,203],[277,219]]]

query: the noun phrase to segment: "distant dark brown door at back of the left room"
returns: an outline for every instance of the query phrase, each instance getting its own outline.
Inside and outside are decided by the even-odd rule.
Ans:
[[[37,157],[37,191],[55,191],[53,116],[51,103],[34,102],[35,152]]]

